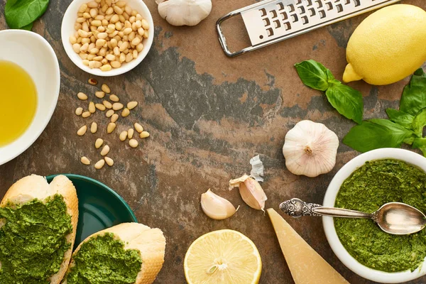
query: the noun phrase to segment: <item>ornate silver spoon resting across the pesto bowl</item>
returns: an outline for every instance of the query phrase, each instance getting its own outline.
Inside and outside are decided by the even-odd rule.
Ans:
[[[306,203],[298,198],[280,204],[280,209],[291,217],[331,216],[373,219],[388,234],[406,235],[421,231],[426,226],[426,216],[413,206],[400,202],[389,202],[371,214],[355,210],[323,207]]]

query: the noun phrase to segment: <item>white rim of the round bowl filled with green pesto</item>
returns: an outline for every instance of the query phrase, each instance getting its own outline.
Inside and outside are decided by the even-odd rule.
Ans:
[[[334,207],[336,201],[337,192],[339,192],[340,186],[351,175],[357,168],[364,165],[368,160],[380,160],[392,158],[396,160],[403,160],[406,163],[415,165],[418,168],[426,172],[426,158],[422,155],[418,155],[412,151],[397,149],[397,148],[382,148],[373,150],[357,156],[356,158],[346,163],[339,172],[334,176],[332,182],[330,182],[327,192],[325,192],[324,202],[322,203],[327,207]],[[327,241],[332,247],[332,250],[336,256],[342,261],[342,263],[354,273],[364,277],[368,280],[380,282],[380,283],[401,283],[410,281],[420,276],[426,275],[426,265],[421,264],[415,271],[402,271],[395,273],[388,273],[383,271],[377,271],[367,266],[362,265],[354,257],[352,257],[339,240],[336,229],[334,228],[334,222],[332,217],[322,217],[322,224],[324,225],[325,235]]]

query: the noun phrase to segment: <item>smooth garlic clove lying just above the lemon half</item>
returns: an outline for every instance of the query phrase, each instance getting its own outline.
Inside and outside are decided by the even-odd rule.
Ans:
[[[231,202],[215,195],[211,190],[201,195],[201,208],[208,217],[216,220],[229,218],[238,210]]]

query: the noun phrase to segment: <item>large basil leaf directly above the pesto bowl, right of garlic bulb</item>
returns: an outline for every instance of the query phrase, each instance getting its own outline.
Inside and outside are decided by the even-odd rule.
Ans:
[[[377,148],[398,148],[412,131],[386,119],[363,121],[352,127],[343,138],[343,143],[359,152],[367,152]],[[399,127],[398,127],[399,126]]]

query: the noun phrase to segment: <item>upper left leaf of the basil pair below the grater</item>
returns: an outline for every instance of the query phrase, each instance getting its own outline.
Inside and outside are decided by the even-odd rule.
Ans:
[[[328,81],[334,79],[332,72],[320,62],[312,59],[296,63],[295,67],[303,84],[312,89],[325,91],[329,87]],[[331,77],[329,77],[329,75],[331,75]]]

